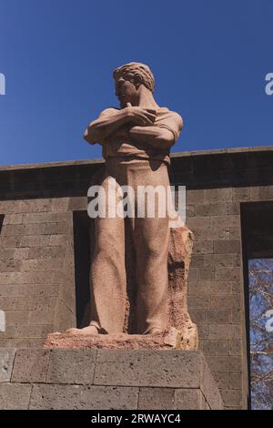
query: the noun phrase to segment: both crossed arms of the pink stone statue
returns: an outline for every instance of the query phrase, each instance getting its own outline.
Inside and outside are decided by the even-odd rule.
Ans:
[[[120,128],[123,136],[136,144],[148,148],[170,148],[175,136],[167,127],[154,125],[156,112],[141,107],[126,107],[121,110],[107,108],[87,127],[84,138],[89,144],[102,141]],[[126,133],[126,135],[125,135]]]

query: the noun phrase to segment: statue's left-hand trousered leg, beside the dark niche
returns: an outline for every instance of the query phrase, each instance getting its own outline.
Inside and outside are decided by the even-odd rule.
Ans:
[[[107,179],[103,183],[106,188]],[[123,332],[126,310],[125,222],[96,218],[96,247],[90,270],[91,322],[100,332]]]

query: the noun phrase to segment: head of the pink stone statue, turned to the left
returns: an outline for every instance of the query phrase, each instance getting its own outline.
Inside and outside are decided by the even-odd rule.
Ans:
[[[116,83],[116,97],[121,107],[126,107],[126,103],[134,105],[141,86],[146,87],[150,92],[154,91],[155,77],[145,64],[129,63],[118,66],[113,76]]]

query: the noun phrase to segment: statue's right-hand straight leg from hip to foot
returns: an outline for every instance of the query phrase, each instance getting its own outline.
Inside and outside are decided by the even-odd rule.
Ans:
[[[146,167],[145,167],[146,164]],[[130,182],[134,187],[161,186],[167,191],[169,185],[167,167],[149,162],[134,171]],[[166,200],[166,199],[165,199]],[[137,200],[138,203],[138,200]],[[155,218],[136,218],[133,239],[136,250],[137,280],[137,331],[140,334],[164,331],[167,328],[167,250],[169,221],[167,215],[158,217],[159,199],[156,199]]]

